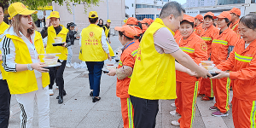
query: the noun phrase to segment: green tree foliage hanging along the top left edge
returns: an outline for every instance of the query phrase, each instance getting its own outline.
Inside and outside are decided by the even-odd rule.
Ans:
[[[86,11],[86,7],[90,7],[91,5],[98,5],[100,0],[0,0],[0,3],[8,4],[21,2],[29,7],[29,9],[38,9],[38,7],[49,6],[50,3],[55,1],[55,3],[59,3],[59,5],[69,4],[69,3],[79,3],[84,4],[84,9]],[[68,5],[67,5],[68,7]]]

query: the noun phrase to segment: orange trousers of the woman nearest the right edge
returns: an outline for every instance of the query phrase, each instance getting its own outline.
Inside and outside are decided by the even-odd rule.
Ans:
[[[233,97],[232,105],[235,128],[256,127],[256,101],[244,101]]]

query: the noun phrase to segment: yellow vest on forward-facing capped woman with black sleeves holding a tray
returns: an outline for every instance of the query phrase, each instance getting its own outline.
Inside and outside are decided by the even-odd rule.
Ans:
[[[58,35],[56,35],[55,28],[53,26],[48,27],[48,39],[47,39],[47,46],[45,49],[47,54],[61,53],[61,55],[56,55],[56,56],[59,56],[59,60],[67,60],[67,54],[68,54],[67,48],[62,46],[52,45],[55,43],[55,40],[54,40],[55,37],[61,37],[62,42],[66,42],[67,32],[68,32],[68,29],[65,26],[62,26],[61,32],[59,32]]]

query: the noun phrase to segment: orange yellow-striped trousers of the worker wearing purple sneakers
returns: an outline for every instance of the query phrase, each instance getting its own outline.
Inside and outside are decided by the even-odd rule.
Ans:
[[[212,79],[212,84],[216,101],[214,106],[221,113],[226,113],[230,110],[230,79]]]

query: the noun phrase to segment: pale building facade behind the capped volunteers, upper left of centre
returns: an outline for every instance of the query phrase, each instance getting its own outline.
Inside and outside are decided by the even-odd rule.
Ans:
[[[61,24],[67,26],[68,22],[75,22],[81,30],[89,26],[88,15],[90,11],[96,11],[99,19],[112,21],[111,28],[114,26],[122,26],[125,20],[125,0],[101,0],[98,6],[91,6],[84,11],[84,4],[69,4],[71,12],[67,9],[67,4],[60,6],[58,3],[52,3],[53,10],[58,11],[61,16]],[[73,9],[74,7],[74,9]]]

